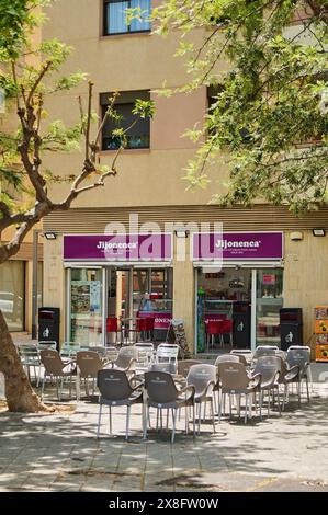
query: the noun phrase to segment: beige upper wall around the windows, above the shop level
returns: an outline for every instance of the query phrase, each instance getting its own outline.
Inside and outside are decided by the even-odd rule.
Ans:
[[[159,3],[158,1],[155,3]],[[101,37],[101,4],[94,0],[58,0],[47,14],[44,38],[58,37],[73,47],[73,53],[61,73],[82,70],[94,82],[93,110],[100,113],[100,93],[114,90],[152,90],[156,114],[150,124],[150,149],[126,150],[118,159],[118,175],[109,179],[104,187],[81,195],[78,206],[142,206],[170,204],[207,204],[211,191],[197,188],[185,192],[182,180],[184,168],[194,157],[196,145],[182,134],[203,118],[206,107],[206,88],[192,94],[177,94],[165,99],[156,93],[161,88],[183,85],[190,76],[184,59],[173,57],[180,34],[163,38],[156,34],[132,34]],[[75,23],[71,23],[72,13]],[[201,42],[202,31],[193,34]],[[46,99],[49,118],[75,124],[79,116],[77,95],[87,101],[87,83],[68,93]],[[93,126],[93,134],[97,125]],[[100,163],[110,164],[113,151],[101,152]],[[55,174],[70,175],[81,171],[82,153],[47,156],[45,167]],[[213,183],[226,176],[226,167],[218,163],[210,173]],[[215,187],[222,187],[222,181]],[[60,201],[69,185],[53,187],[54,201]]]

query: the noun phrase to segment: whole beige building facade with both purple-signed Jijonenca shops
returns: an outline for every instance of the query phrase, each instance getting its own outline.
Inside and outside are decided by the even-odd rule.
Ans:
[[[127,3],[146,11],[158,2]],[[64,73],[89,73],[100,119],[113,91],[121,93],[116,107],[126,124],[134,121],[135,99],[156,104],[155,117],[137,123],[128,135],[117,176],[81,195],[69,211],[44,220],[44,231],[56,237],[44,242],[44,305],[60,308],[60,339],[106,342],[109,318],[151,311],[159,339],[171,319],[182,319],[194,353],[218,347],[229,334],[236,346],[280,345],[280,309],[294,307],[303,308],[303,341],[312,343],[314,307],[328,300],[328,239],[315,237],[313,229],[328,229],[328,209],[296,218],[284,207],[208,205],[227,178],[222,162],[208,170],[207,190],[185,191],[183,169],[196,146],[182,135],[202,121],[208,92],[158,94],[163,84],[177,88],[189,79],[183,61],[173,57],[179,34],[162,38],[143,21],[126,26],[125,4],[58,0],[44,27],[44,38],[58,37],[73,47]],[[193,37],[201,41],[202,32]],[[76,96],[86,101],[86,91],[81,84],[73,94],[47,99],[50,119],[76,123]],[[111,163],[118,145],[111,128],[108,124],[102,134],[102,164]],[[66,176],[81,170],[82,156],[48,156],[46,161]],[[68,187],[56,184],[55,199]],[[113,239],[113,227],[127,236]],[[156,233],[151,241],[145,238],[149,229]],[[205,323],[216,319],[230,320],[230,328],[207,342]]]

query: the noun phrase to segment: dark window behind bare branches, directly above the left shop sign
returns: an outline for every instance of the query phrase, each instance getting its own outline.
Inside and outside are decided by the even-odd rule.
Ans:
[[[102,118],[105,115],[109,98],[111,93],[102,93],[100,95],[100,103],[102,107]],[[123,128],[126,130],[135,121],[136,124],[126,133],[125,148],[149,148],[150,140],[150,119],[138,118],[137,115],[132,113],[135,101],[150,100],[149,91],[124,91],[117,96],[115,103],[116,113],[122,116],[120,122],[108,118],[102,131],[102,150],[115,150],[121,146],[121,138],[113,136],[113,130]]]

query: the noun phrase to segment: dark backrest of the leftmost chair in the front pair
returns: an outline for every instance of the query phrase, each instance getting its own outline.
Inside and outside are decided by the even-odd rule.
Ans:
[[[99,370],[97,386],[102,398],[111,401],[128,399],[133,391],[125,371],[114,368]]]

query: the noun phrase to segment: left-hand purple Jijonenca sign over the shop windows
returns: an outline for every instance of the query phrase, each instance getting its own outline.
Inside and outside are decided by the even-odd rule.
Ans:
[[[66,261],[170,261],[171,234],[75,234],[64,237]]]

